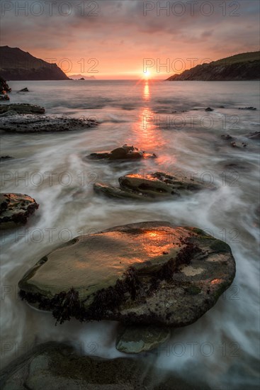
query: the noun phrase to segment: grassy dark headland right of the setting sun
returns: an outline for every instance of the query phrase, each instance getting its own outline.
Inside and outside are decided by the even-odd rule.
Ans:
[[[179,81],[245,81],[260,79],[260,52],[244,52],[209,64],[197,65],[166,79]]]

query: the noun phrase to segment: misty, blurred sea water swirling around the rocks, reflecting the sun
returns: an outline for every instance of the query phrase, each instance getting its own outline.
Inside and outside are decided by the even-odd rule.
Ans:
[[[237,274],[230,289],[196,323],[173,331],[147,354],[159,370],[214,390],[259,386],[259,130],[257,82],[9,82],[10,103],[39,104],[46,114],[96,118],[98,127],[63,133],[1,133],[1,192],[33,196],[40,208],[28,225],[1,232],[2,367],[40,342],[71,342],[83,354],[115,350],[118,323],[55,326],[47,312],[18,299],[18,281],[40,257],[83,233],[139,221],[202,228],[232,248]],[[23,87],[30,92],[17,93]],[[205,108],[214,108],[205,112]],[[225,108],[220,108],[224,106]],[[254,106],[256,111],[239,110]],[[1,118],[0,118],[1,121]],[[247,147],[231,147],[220,135]],[[157,159],[108,165],[85,160],[123,144]],[[130,172],[172,172],[217,186],[174,201],[140,204],[105,199],[94,182],[117,184]],[[133,357],[138,358],[138,357]],[[158,376],[158,381],[162,377]]]

